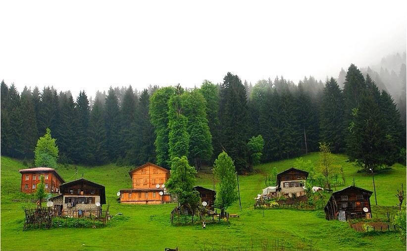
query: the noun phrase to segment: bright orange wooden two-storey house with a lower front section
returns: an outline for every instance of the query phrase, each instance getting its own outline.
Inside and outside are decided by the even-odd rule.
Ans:
[[[120,202],[132,204],[161,204],[171,202],[164,183],[169,178],[169,170],[146,163],[129,172],[133,189],[120,190]]]

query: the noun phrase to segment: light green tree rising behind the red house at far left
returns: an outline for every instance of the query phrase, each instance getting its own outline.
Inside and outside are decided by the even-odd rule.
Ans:
[[[55,167],[58,159],[58,147],[55,144],[55,139],[51,137],[49,128],[47,128],[46,134],[38,139],[34,155],[36,166]]]

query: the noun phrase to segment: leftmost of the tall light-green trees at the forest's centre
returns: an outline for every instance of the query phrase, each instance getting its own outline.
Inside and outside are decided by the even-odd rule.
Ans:
[[[155,131],[155,153],[158,165],[169,168],[168,153],[168,100],[175,95],[174,87],[164,87],[154,92],[150,98],[151,123]]]

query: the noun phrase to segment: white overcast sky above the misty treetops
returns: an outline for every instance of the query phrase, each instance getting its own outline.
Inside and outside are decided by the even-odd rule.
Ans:
[[[109,86],[337,77],[406,51],[407,1],[0,2],[0,79],[95,96]],[[250,3],[249,3],[250,2]]]

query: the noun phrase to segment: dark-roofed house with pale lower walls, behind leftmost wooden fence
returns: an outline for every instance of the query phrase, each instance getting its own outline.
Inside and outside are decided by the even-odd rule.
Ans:
[[[59,190],[60,195],[50,199],[56,215],[100,215],[102,204],[106,203],[104,186],[84,178],[64,183]]]

